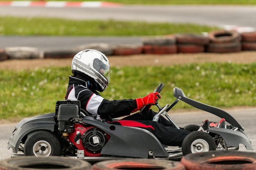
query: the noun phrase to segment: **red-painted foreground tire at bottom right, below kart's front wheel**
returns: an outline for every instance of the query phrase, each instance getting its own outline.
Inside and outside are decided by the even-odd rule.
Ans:
[[[181,163],[186,170],[255,170],[256,153],[211,151],[186,155]]]

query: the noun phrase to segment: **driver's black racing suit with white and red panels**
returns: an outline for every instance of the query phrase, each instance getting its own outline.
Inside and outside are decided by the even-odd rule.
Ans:
[[[80,100],[81,108],[99,118],[119,118],[120,121],[111,123],[125,126],[137,126],[153,133],[162,144],[167,146],[181,146],[182,141],[190,131],[176,129],[171,122],[160,116],[158,122],[154,122],[155,112],[151,109],[142,114],[130,113],[137,108],[136,100],[107,100],[94,89],[89,89],[87,81],[70,76],[65,99]],[[130,115],[130,116],[128,116]],[[128,120],[128,121],[127,121]]]

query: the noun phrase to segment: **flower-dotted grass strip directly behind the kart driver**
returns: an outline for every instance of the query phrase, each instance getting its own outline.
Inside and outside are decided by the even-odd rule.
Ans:
[[[34,70],[0,70],[0,118],[20,120],[54,112],[57,100],[64,100],[70,67]],[[112,67],[107,99],[143,97],[164,83],[159,104],[175,100],[173,88],[187,97],[220,108],[255,106],[256,63],[204,63],[157,67]],[[156,109],[156,107],[152,107]],[[192,109],[180,101],[173,109]]]

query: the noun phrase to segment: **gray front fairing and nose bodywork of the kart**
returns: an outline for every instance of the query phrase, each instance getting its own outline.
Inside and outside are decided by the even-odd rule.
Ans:
[[[212,113],[220,118],[225,118],[226,122],[231,124],[231,126],[238,127],[240,130],[239,131],[233,131],[231,129],[224,129],[224,128],[215,128],[212,127],[208,129],[210,133],[215,133],[220,135],[226,142],[227,145],[233,146],[233,147],[238,147],[239,144],[244,144],[247,150],[253,150],[252,148],[252,142],[250,139],[245,135],[244,128],[243,126],[229,113],[226,111],[219,109],[217,107],[213,107],[210,105],[206,105],[204,103],[195,101],[191,98],[187,98],[182,89],[175,87],[173,89],[173,96],[176,97],[179,100],[182,100],[183,102],[186,102],[187,104],[203,110],[207,111],[209,113]]]

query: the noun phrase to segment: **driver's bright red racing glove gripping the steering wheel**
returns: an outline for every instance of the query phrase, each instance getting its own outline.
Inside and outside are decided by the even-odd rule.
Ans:
[[[137,108],[134,109],[132,111],[138,111],[140,110],[142,107],[144,107],[145,105],[155,105],[155,103],[157,102],[157,100],[161,98],[161,95],[158,92],[153,92],[148,94],[147,96],[143,97],[143,98],[135,98],[136,103],[137,103]]]

